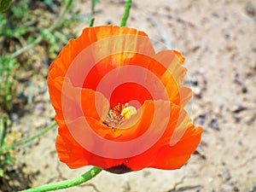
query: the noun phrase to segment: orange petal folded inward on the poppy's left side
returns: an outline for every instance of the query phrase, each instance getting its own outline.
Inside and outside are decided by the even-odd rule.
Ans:
[[[73,87],[70,80],[63,77],[49,80],[48,84],[58,123],[63,124],[64,119],[73,120],[80,116],[102,120],[108,115],[108,100],[100,92]]]

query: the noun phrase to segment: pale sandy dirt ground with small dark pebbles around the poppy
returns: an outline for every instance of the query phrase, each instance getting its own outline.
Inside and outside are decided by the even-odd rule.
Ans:
[[[90,1],[80,2],[78,7],[86,15]],[[119,25],[123,10],[124,1],[100,1],[95,26]],[[201,145],[180,170],[102,172],[89,183],[60,191],[256,191],[256,1],[138,0],[127,26],[147,32],[156,49],[178,49],[186,56],[189,72],[185,83],[195,91],[188,109],[195,125],[205,130]],[[54,119],[47,70],[40,68],[24,92],[33,102],[13,125],[23,137]],[[20,189],[73,178],[90,168],[70,170],[59,162],[56,132],[49,131],[16,150],[24,176]]]

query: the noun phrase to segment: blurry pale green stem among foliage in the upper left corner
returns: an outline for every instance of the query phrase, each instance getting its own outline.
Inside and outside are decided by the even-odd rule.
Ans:
[[[57,20],[55,20],[54,24],[49,27],[48,32],[52,32],[53,30],[55,30],[57,26],[61,25],[61,23],[64,20],[64,16],[67,13],[67,10],[71,7],[72,2],[73,0],[66,1],[64,9],[61,10],[61,15],[58,17]],[[15,58],[16,56],[26,52],[28,49],[31,49],[34,45],[39,44],[42,40],[43,40],[43,37],[39,36],[35,41],[32,42],[32,44],[28,44],[26,45],[26,47],[16,50],[15,53],[10,55],[10,57]]]

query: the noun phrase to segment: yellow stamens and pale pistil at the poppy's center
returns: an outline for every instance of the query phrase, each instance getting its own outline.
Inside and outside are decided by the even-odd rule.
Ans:
[[[110,108],[108,116],[103,121],[103,124],[108,125],[111,128],[116,128],[122,125],[126,119],[130,119],[131,115],[136,113],[136,108],[129,106],[128,103],[119,103],[117,106]]]

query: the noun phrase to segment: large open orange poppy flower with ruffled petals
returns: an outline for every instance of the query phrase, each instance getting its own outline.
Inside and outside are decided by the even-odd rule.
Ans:
[[[114,173],[183,166],[202,133],[183,109],[192,96],[183,61],[128,27],[88,27],[70,40],[48,77],[60,160]]]

